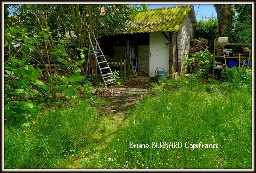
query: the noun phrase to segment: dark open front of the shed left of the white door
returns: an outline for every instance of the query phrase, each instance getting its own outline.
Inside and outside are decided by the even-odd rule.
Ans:
[[[120,60],[130,63],[130,58],[127,57],[127,49],[130,48],[128,54],[132,57],[131,74],[135,74],[138,79],[149,79],[149,33],[105,35],[100,38],[100,46],[105,58],[112,61],[112,64],[115,63],[111,68],[117,68],[115,66],[120,64]],[[120,68],[117,70],[120,71]]]

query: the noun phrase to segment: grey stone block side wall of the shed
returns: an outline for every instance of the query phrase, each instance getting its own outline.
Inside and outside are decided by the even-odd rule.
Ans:
[[[178,72],[186,72],[185,58],[189,57],[190,41],[195,36],[189,14],[178,33]]]

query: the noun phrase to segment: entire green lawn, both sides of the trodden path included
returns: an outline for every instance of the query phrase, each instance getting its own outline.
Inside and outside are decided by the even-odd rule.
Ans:
[[[33,128],[5,125],[4,167],[84,169],[251,169],[252,90],[180,78],[155,86],[137,106],[102,116],[102,99],[76,99],[39,115]],[[152,141],[180,141],[173,149],[130,149]],[[184,143],[218,144],[215,149]],[[72,150],[72,151],[71,151]],[[75,150],[75,151],[73,151]],[[72,156],[74,154],[74,156]]]

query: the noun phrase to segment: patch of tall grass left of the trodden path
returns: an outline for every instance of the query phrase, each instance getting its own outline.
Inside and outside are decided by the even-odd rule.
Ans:
[[[97,128],[95,121],[92,107],[80,100],[65,108],[45,110],[31,128],[5,125],[4,168],[60,168],[65,157],[90,143],[92,139],[86,136]]]

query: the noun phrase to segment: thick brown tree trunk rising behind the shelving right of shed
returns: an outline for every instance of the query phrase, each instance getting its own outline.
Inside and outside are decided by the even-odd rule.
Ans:
[[[216,39],[225,36],[225,28],[231,24],[232,18],[234,17],[234,8],[231,4],[214,4],[217,12],[218,26],[215,31]]]

